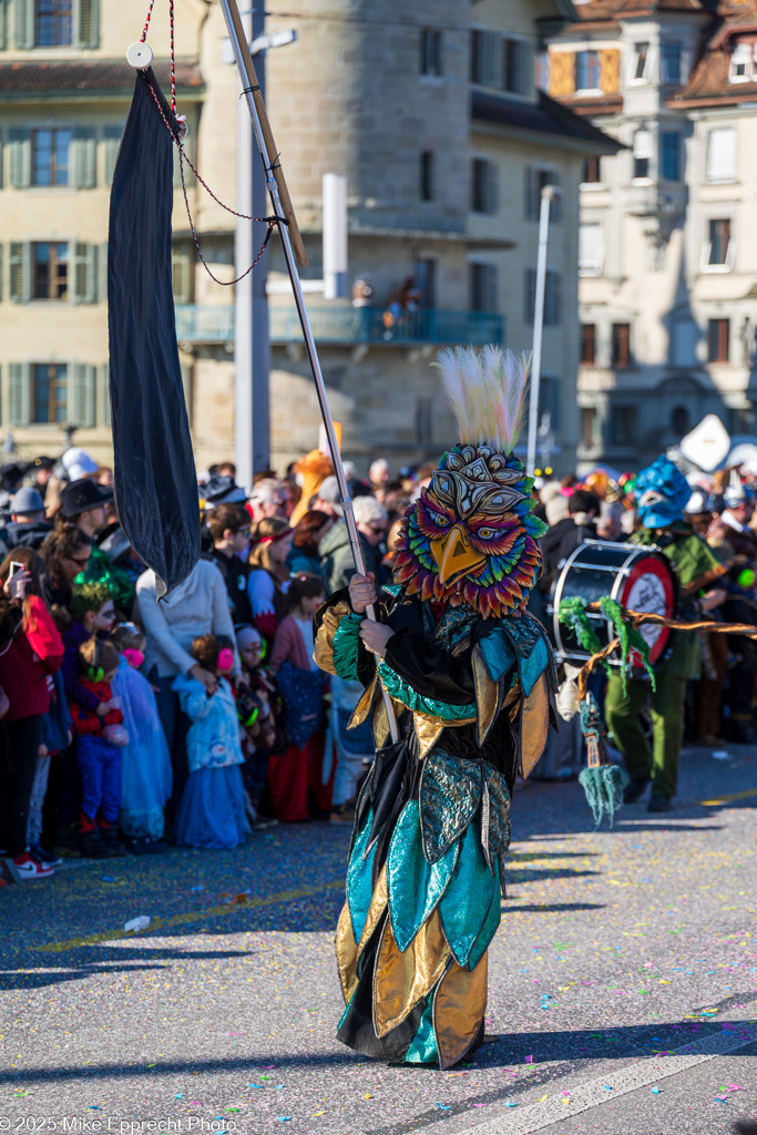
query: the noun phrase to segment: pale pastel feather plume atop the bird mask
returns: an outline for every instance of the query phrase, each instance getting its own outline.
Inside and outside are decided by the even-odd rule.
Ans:
[[[434,364],[449,398],[463,445],[512,453],[521,432],[531,355],[498,346],[445,347]]]

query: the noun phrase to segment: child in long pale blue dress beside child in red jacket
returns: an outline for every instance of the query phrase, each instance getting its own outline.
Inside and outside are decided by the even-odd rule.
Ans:
[[[121,754],[121,833],[136,855],[166,851],[163,807],[171,794],[171,758],[155,695],[140,673],[144,633],[135,623],[119,623],[110,641],[120,655],[112,688],[129,738]]]

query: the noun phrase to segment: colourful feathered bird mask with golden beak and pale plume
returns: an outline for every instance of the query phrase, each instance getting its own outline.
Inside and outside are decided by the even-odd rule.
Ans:
[[[447,350],[437,367],[460,427],[396,544],[407,595],[499,619],[525,603],[541,565],[533,481],[513,454],[530,359],[488,346]]]

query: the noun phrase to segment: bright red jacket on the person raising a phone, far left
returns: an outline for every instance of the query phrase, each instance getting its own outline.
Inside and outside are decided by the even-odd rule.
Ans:
[[[30,619],[24,620],[0,657],[0,686],[10,703],[6,721],[20,721],[50,708],[48,674],[64,658],[64,644],[42,599],[30,598]]]

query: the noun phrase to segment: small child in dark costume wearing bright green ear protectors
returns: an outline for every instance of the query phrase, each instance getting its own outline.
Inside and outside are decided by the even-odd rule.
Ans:
[[[276,725],[274,721],[276,690],[266,671],[262,669],[266,657],[266,640],[262,638],[260,631],[255,630],[254,627],[237,627],[235,630],[242,672],[247,679],[251,693],[259,703],[254,721],[249,723],[242,713],[239,717],[245,731],[242,749],[246,757],[242,776],[254,812],[254,819],[252,821],[253,831],[261,831],[266,827],[272,827],[278,823],[278,819],[272,816],[263,816],[260,809],[260,798],[268,776],[268,759],[276,743]],[[237,707],[239,707],[242,698],[237,696]]]

